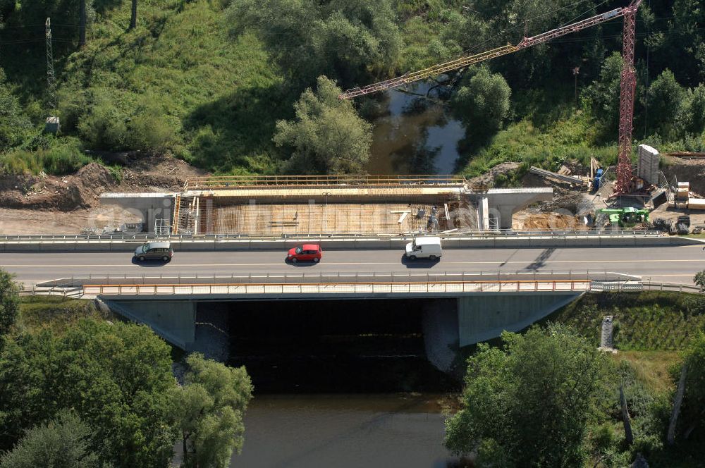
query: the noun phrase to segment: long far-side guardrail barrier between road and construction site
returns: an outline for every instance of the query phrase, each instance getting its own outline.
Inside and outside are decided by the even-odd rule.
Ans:
[[[0,235],[0,242],[128,242],[147,240],[344,240],[344,239],[412,239],[419,235],[439,235],[441,238],[565,238],[565,237],[661,237],[663,232],[658,230],[497,230],[497,231],[467,231],[455,233],[408,233],[408,234],[381,234],[381,233],[353,233],[353,234],[300,234],[300,235],[247,235],[238,233],[229,234],[178,234],[157,235],[154,233],[111,233],[111,234],[54,234],[54,235]]]

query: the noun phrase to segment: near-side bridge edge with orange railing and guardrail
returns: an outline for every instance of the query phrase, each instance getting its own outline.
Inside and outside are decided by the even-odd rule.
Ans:
[[[27,288],[30,295],[469,293],[591,290],[591,283],[634,283],[637,276],[610,271],[438,273],[249,273],[59,278]]]

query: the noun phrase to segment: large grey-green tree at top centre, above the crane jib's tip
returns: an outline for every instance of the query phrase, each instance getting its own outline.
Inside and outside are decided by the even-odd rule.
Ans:
[[[401,47],[390,0],[233,1],[239,34],[257,31],[298,89],[319,75],[345,87],[393,70]]]

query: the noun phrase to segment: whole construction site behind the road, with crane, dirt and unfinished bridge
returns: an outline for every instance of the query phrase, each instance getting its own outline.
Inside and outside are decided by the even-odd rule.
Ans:
[[[553,172],[502,163],[476,180],[443,175],[207,176],[173,158],[157,164],[149,159],[136,163],[138,159],[130,162],[125,153],[118,158],[125,165],[118,183],[98,164],[88,164],[74,176],[42,173],[0,180],[0,210],[16,210],[2,217],[0,229],[6,233],[21,228],[35,233],[80,230],[253,237],[604,228],[699,232],[705,222],[701,195],[705,194],[705,155],[661,155],[642,144],[637,161],[632,160],[635,18],[640,4],[642,0],[632,0],[624,8],[539,35],[525,33],[514,45],[355,87],[338,96],[354,99],[403,88],[623,18],[615,166],[603,167],[594,158],[589,168],[566,160]],[[97,154],[104,159],[115,155]],[[520,170],[525,176],[519,187],[494,187],[498,176]],[[32,209],[44,212],[35,216]],[[52,216],[51,211],[59,214]],[[63,216],[67,211],[72,215]]]

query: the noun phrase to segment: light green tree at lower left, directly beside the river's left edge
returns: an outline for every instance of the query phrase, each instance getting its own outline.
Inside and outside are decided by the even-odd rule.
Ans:
[[[186,467],[225,468],[243,448],[243,414],[252,398],[245,367],[233,369],[194,353],[173,394]]]

